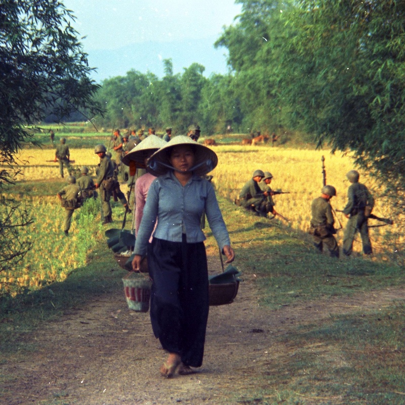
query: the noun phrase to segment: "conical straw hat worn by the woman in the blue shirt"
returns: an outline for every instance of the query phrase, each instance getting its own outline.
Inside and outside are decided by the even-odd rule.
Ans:
[[[147,163],[148,172],[157,177],[171,170],[168,150],[179,145],[190,145],[194,150],[195,169],[192,171],[193,174],[204,176],[218,165],[218,157],[212,149],[193,141],[188,136],[178,135],[153,153]]]

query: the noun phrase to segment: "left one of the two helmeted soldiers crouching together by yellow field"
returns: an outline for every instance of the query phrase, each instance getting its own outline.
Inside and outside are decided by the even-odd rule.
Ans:
[[[255,170],[252,178],[242,187],[239,193],[239,204],[261,217],[267,217],[267,213],[274,210],[273,206],[267,202],[270,193],[261,190],[259,186],[264,177],[262,170]]]

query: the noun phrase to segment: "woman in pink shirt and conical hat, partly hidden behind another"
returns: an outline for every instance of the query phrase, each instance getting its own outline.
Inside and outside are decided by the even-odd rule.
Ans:
[[[138,177],[135,183],[135,236],[138,236],[143,209],[146,204],[146,196],[152,181],[156,178],[148,173],[146,161],[157,149],[166,145],[166,142],[156,135],[149,135],[123,158],[124,165],[129,166],[130,161],[135,161],[137,167],[145,167],[146,173]]]

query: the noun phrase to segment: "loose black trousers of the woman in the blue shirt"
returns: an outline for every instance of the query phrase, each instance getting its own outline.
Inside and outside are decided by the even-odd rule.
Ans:
[[[170,353],[187,366],[203,363],[209,297],[206,249],[153,238],[148,245],[152,279],[150,320],[153,333]]]

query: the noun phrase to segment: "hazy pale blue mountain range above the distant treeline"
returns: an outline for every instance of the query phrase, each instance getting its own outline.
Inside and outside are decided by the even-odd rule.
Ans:
[[[203,65],[204,75],[211,73],[226,74],[227,50],[214,48],[217,38],[191,39],[178,42],[136,43],[117,50],[86,51],[89,65],[97,71],[92,78],[101,83],[102,80],[115,76],[125,76],[131,69],[141,73],[150,71],[159,78],[164,76],[164,59],[172,59],[173,72],[183,73],[184,69],[196,62]]]

